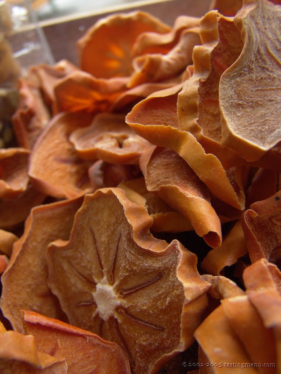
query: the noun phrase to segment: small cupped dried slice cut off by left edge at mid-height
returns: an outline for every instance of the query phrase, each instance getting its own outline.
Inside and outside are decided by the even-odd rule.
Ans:
[[[0,197],[12,198],[27,188],[29,154],[24,148],[0,149]]]

